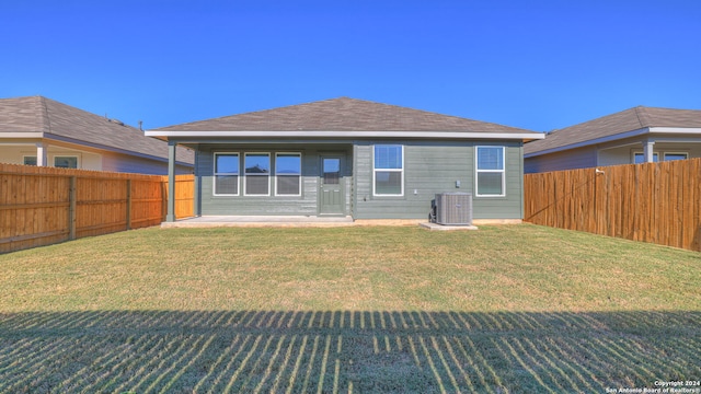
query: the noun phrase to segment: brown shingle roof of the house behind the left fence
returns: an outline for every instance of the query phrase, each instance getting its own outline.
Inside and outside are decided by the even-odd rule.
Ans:
[[[43,96],[0,99],[0,138],[45,138],[119,153],[168,160],[168,144],[143,131]],[[179,162],[194,163],[181,148]]]

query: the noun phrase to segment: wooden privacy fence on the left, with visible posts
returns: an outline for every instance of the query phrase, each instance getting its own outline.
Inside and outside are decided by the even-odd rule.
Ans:
[[[175,216],[193,216],[177,175]],[[161,223],[168,176],[0,164],[0,253]]]

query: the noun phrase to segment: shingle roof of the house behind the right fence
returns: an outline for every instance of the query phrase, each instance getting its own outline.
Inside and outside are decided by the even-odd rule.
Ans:
[[[701,111],[637,106],[552,131],[525,144],[524,153],[535,157],[651,132],[701,134]]]

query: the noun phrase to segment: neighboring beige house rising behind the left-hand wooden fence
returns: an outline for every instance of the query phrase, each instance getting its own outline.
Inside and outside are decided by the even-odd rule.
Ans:
[[[163,175],[168,143],[43,96],[0,99],[0,162]],[[192,173],[194,153],[181,149],[176,165]]]

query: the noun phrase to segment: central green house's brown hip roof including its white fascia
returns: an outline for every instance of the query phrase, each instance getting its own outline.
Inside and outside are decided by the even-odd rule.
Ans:
[[[377,131],[384,131],[378,134]],[[154,137],[435,137],[455,134],[491,134],[487,138],[531,139],[540,134],[492,123],[363,100],[340,97],[215,119],[186,123],[156,130]]]

